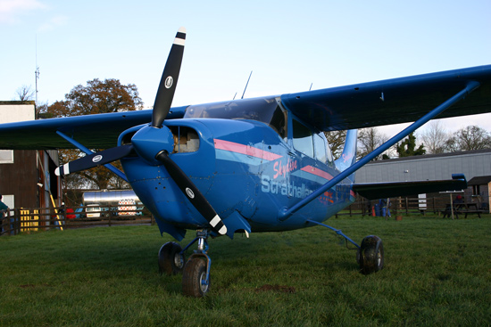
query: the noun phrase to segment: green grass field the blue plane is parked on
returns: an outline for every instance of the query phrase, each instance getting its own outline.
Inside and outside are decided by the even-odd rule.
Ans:
[[[0,326],[488,326],[491,216],[332,218],[354,241],[384,240],[385,268],[323,227],[210,240],[212,290],[161,276],[156,226],[0,238]],[[194,238],[195,233],[181,244]]]

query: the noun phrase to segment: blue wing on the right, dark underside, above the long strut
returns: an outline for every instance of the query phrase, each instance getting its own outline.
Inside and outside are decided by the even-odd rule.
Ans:
[[[490,112],[491,65],[283,94],[281,101],[323,131],[375,127],[416,121],[471,81],[479,88],[438,119]]]

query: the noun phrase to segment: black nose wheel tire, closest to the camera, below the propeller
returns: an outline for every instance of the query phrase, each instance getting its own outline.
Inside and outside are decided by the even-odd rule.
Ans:
[[[182,292],[193,298],[202,298],[210,290],[211,278],[208,285],[202,281],[206,280],[206,263],[201,258],[190,258],[182,273]]]

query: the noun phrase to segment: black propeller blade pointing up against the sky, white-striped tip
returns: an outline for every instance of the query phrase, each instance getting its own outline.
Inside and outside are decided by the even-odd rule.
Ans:
[[[162,127],[163,120],[171,110],[172,98],[178,85],[180,64],[184,54],[186,29],[180,28],[171,47],[171,52],[162,72],[161,83],[155,96],[154,111],[152,113],[152,127]]]

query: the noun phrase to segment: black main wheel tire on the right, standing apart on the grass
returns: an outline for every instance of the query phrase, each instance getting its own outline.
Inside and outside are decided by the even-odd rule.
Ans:
[[[377,273],[384,267],[384,244],[379,236],[370,235],[363,239],[356,254],[362,274]]]

